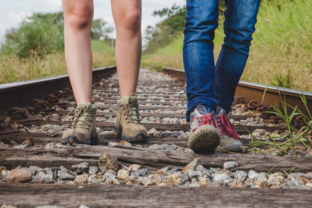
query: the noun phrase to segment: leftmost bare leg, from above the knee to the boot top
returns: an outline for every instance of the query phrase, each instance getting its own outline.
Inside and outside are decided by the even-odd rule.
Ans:
[[[77,103],[91,103],[93,0],[62,0],[65,59]]]

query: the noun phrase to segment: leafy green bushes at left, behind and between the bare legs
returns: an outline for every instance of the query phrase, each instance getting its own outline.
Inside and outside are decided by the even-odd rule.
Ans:
[[[95,19],[92,24],[93,40],[107,40],[113,31],[104,19]],[[1,54],[20,58],[43,57],[46,54],[64,51],[63,12],[34,13],[24,19],[18,28],[5,34]]]

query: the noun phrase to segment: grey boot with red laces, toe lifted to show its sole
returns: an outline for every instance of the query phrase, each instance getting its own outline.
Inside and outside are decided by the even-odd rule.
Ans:
[[[187,146],[194,152],[213,153],[220,144],[213,114],[214,112],[208,113],[202,105],[197,105],[195,110],[191,112],[191,136]]]

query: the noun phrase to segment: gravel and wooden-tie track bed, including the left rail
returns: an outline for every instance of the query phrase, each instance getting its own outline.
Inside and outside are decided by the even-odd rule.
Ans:
[[[62,119],[75,106],[67,76],[0,86],[0,205],[311,206],[312,157],[308,149],[300,150],[300,157],[248,151],[250,132],[266,138],[267,132],[281,133],[282,137],[286,130],[278,118],[260,113],[267,107],[257,99],[237,98],[229,116],[245,151],[195,154],[186,148],[189,124],[184,118],[187,100],[182,73],[165,70],[168,76],[142,70],[140,113],[150,140],[128,144],[113,131],[119,98],[115,72],[116,67],[94,71],[92,99],[99,109],[97,146],[59,144],[62,132],[71,124],[70,117],[64,123]],[[104,153],[117,158],[119,170],[103,171],[99,158]]]

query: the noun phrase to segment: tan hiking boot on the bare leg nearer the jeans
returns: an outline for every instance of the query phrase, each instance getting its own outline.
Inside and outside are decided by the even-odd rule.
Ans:
[[[126,96],[117,102],[117,119],[115,131],[127,142],[148,141],[148,130],[142,125],[136,94]]]

